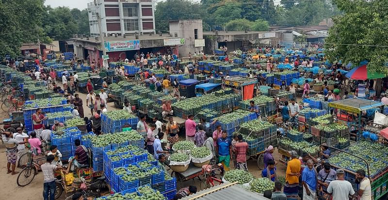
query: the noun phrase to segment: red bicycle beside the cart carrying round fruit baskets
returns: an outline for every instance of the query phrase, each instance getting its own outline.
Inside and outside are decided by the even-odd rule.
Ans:
[[[217,171],[219,171],[219,174],[217,174]],[[221,176],[221,174],[224,173],[222,164],[219,163],[218,165],[204,165],[202,166],[202,172],[203,179],[201,181],[201,189],[213,187],[215,182],[218,183],[218,185],[224,183],[220,178],[217,178],[217,176]]]

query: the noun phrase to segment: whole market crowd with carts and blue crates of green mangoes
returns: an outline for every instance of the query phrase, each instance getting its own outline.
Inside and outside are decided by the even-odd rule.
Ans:
[[[319,46],[56,58],[0,65],[7,173],[26,188],[43,176],[45,200],[387,193],[387,80],[368,62]]]

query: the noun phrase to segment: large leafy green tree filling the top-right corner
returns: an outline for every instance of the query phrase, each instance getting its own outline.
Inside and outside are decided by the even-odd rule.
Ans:
[[[357,65],[369,61],[368,71],[388,75],[388,0],[334,0],[344,14],[336,16],[325,40],[331,61]]]

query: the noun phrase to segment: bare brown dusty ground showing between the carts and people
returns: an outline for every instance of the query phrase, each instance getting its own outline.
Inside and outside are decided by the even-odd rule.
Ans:
[[[78,93],[78,92],[77,92]],[[86,107],[86,94],[79,93],[80,98],[83,100],[83,109],[85,116],[90,117],[90,109]],[[115,109],[113,108],[113,103],[108,104],[108,110]],[[1,110],[2,111],[2,110]],[[6,113],[0,112],[0,122],[4,119],[4,116]],[[279,155],[277,154],[277,151],[274,153],[275,160],[279,160]],[[43,174],[42,172],[38,172],[38,174],[33,179],[32,183],[30,185],[19,187],[16,184],[16,175],[7,174],[7,159],[5,155],[5,146],[0,143],[0,180],[1,180],[1,187],[0,187],[0,194],[3,195],[4,199],[10,199],[10,200],[42,200],[42,192],[43,192]],[[257,160],[248,160],[248,170],[255,176],[255,177],[261,177],[261,170],[257,168]],[[233,164],[231,163],[231,166]],[[282,164],[277,164],[277,174],[278,176],[285,176],[286,168]],[[16,169],[16,171],[21,171],[21,169]],[[193,185],[193,181],[187,181],[183,183],[183,186]],[[197,179],[194,181],[194,185],[197,185],[199,187],[200,183]],[[3,198],[0,198],[3,199]],[[65,193],[61,196],[59,200],[65,199]]]

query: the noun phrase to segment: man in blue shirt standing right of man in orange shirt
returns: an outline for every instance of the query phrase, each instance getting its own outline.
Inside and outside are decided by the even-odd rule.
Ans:
[[[317,189],[317,171],[314,168],[314,162],[307,160],[307,168],[302,172],[303,200],[315,200]]]

